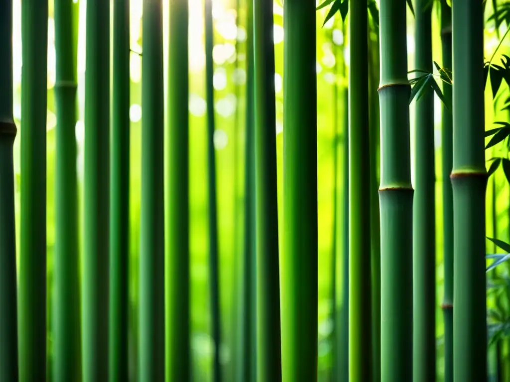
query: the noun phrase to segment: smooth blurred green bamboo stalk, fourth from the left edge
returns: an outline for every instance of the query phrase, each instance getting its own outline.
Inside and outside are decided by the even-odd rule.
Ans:
[[[110,3],[88,0],[82,297],[84,382],[108,378]]]

